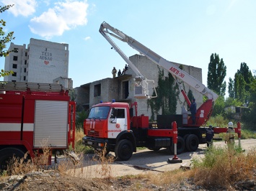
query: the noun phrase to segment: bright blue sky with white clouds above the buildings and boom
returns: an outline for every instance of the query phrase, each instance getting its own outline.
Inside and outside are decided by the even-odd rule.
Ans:
[[[125,65],[99,32],[104,21],[169,61],[202,68],[205,85],[215,52],[226,65],[227,84],[241,62],[256,70],[255,0],[0,0],[5,4],[14,4],[0,18],[6,32],[14,31],[14,44],[27,45],[30,38],[69,44],[74,88],[111,78],[112,67]],[[128,57],[138,54],[119,43]]]

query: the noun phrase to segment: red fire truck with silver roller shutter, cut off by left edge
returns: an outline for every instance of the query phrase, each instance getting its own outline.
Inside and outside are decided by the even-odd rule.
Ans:
[[[51,154],[68,149],[71,144],[74,148],[75,111],[76,105],[63,85],[1,83],[1,169],[13,156],[20,158],[29,152],[33,159],[43,154],[43,146]]]

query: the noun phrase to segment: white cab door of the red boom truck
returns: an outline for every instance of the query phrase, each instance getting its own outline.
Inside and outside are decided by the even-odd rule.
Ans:
[[[115,139],[121,131],[127,130],[127,111],[125,108],[112,108],[107,122],[107,137]]]

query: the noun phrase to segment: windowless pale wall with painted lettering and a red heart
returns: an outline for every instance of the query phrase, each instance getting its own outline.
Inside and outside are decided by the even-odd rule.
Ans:
[[[27,69],[27,82],[53,83],[60,76],[68,78],[69,45],[30,39]]]

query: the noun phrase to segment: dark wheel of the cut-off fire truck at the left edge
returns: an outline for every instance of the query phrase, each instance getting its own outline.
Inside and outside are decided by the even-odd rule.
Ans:
[[[0,170],[6,169],[9,159],[16,157],[21,159],[25,153],[21,149],[14,147],[4,148],[0,150]]]

